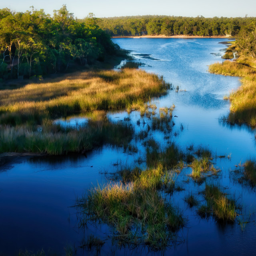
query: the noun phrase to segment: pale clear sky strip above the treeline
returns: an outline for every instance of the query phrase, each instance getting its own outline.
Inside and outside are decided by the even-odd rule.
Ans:
[[[24,12],[33,5],[35,9],[44,9],[52,15],[52,10],[60,9],[62,4],[66,4],[68,11],[78,18],[86,17],[89,12],[93,12],[96,17],[145,14],[190,17],[256,16],[256,0],[1,0],[0,8]]]

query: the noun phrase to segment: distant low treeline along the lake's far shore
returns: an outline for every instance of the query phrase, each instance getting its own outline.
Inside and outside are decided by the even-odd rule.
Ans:
[[[88,24],[97,24],[111,36],[135,36],[145,32],[148,35],[194,35],[217,36],[236,35],[240,29],[256,18],[204,18],[197,16],[126,16],[114,18],[95,18],[90,14],[87,18],[78,20]]]

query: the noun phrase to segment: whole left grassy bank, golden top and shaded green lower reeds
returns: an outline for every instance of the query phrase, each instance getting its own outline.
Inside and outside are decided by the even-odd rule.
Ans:
[[[111,122],[107,110],[144,103],[170,88],[162,78],[142,70],[77,72],[52,82],[0,90],[0,152],[65,154],[104,143],[128,145],[133,128]],[[80,129],[54,125],[57,117],[83,113]]]

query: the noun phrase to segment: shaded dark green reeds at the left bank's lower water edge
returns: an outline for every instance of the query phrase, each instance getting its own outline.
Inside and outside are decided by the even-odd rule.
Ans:
[[[102,112],[94,113],[88,125],[61,128],[51,123],[37,127],[0,125],[0,152],[33,152],[61,155],[83,152],[102,144],[123,146],[132,139],[133,128],[126,123],[110,122]]]

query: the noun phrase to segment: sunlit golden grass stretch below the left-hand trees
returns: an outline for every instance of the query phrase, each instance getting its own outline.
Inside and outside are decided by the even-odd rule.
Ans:
[[[15,117],[13,113],[18,113],[24,119],[16,118],[19,124],[34,116],[53,118],[70,112],[127,108],[135,102],[144,104],[167,89],[168,84],[157,75],[143,70],[79,72],[60,81],[1,90],[0,120],[6,123],[10,114]]]

